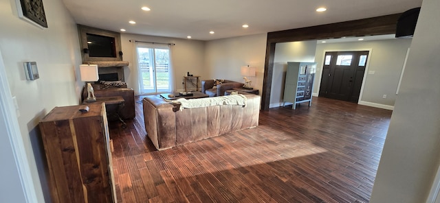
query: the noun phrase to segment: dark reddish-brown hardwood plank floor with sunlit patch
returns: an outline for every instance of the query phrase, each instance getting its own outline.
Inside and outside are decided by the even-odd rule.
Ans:
[[[136,104],[126,129],[109,123],[118,202],[369,202],[391,110],[314,97],[163,151],[143,117]]]

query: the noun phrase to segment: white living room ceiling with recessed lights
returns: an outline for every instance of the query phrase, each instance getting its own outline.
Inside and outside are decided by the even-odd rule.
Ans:
[[[214,40],[405,12],[422,0],[63,0],[76,23],[114,32]],[[141,10],[142,6],[151,8]],[[325,12],[316,12],[319,7]],[[131,25],[129,21],[135,21]],[[241,25],[248,24],[248,28]],[[214,34],[210,34],[214,31]]]

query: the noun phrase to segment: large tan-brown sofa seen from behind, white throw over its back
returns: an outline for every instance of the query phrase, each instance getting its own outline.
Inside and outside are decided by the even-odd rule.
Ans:
[[[157,150],[259,125],[259,95],[238,105],[179,108],[156,95],[143,99],[145,130]],[[225,96],[230,97],[230,96]],[[210,98],[205,98],[210,99]],[[211,98],[212,99],[212,98]]]

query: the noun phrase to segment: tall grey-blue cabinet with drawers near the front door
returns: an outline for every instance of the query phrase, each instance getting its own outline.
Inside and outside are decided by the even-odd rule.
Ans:
[[[303,102],[309,102],[311,106],[315,73],[315,62],[287,62],[283,106],[286,102],[293,103],[293,109]]]

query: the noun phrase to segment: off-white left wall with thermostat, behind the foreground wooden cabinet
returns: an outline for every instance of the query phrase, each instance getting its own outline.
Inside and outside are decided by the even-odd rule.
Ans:
[[[43,3],[47,29],[19,19],[15,1],[0,0],[0,51],[10,92],[17,97],[20,112],[18,122],[23,136],[21,141],[29,160],[28,167],[32,171],[37,202],[45,202],[43,190],[47,192],[45,155],[37,130],[38,122],[54,106],[78,104],[83,84],[76,80],[80,64],[76,24],[62,1],[45,0]],[[26,61],[37,62],[40,79],[26,80],[23,69],[23,62]],[[0,184],[5,184],[7,188],[10,183],[1,181]]]

